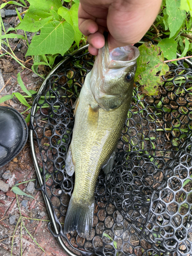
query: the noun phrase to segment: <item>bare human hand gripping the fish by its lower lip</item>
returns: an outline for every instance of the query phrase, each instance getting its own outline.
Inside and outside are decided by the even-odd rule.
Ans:
[[[80,0],[79,30],[98,54],[108,31],[109,49],[136,44],[153,24],[162,0]]]

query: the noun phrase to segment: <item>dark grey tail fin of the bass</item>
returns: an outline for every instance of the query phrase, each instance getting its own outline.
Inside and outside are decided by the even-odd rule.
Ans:
[[[72,196],[65,218],[64,233],[76,230],[80,237],[89,238],[93,226],[94,204],[94,201],[90,204],[77,203]]]

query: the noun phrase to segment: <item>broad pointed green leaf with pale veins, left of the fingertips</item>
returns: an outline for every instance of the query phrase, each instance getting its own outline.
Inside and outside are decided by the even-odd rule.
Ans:
[[[74,41],[74,31],[67,22],[54,20],[41,28],[39,36],[34,36],[26,55],[56,54],[63,55]]]

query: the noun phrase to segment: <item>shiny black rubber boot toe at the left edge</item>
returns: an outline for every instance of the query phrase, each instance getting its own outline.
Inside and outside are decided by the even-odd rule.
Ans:
[[[15,109],[0,106],[0,167],[10,162],[25,146],[28,127]]]

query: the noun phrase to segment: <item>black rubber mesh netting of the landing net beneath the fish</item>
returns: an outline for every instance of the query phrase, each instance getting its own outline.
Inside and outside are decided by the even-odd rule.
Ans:
[[[113,171],[98,177],[92,236],[63,234],[74,186],[65,170],[72,105],[92,66],[89,53],[71,57],[34,97],[31,129],[44,181],[37,187],[51,203],[59,236],[79,255],[192,255],[192,71],[182,61],[169,65],[158,96],[134,89]]]

